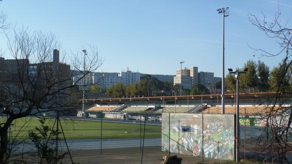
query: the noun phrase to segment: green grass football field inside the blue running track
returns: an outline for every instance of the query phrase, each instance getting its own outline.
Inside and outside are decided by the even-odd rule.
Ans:
[[[0,118],[2,123],[5,120],[4,117]],[[36,117],[25,117],[17,119],[11,126],[11,139],[26,140],[28,139],[28,132],[31,130],[36,131],[36,127],[40,127],[39,119]],[[55,119],[46,119],[45,125],[53,127]],[[124,138],[140,138],[144,131],[144,124],[133,123],[114,123],[114,122],[101,122],[90,120],[73,120],[73,119],[60,119],[66,139],[124,139]],[[56,124],[54,129],[56,129]],[[60,124],[59,124],[59,129]],[[102,134],[102,135],[101,135]],[[161,137],[161,126],[159,125],[146,125],[145,128],[146,138]],[[60,134],[60,138],[64,138]]]

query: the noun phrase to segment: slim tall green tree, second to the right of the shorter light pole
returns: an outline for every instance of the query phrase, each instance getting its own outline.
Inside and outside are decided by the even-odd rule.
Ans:
[[[269,67],[264,62],[258,62],[257,64],[257,76],[258,76],[258,89],[260,91],[269,90]]]

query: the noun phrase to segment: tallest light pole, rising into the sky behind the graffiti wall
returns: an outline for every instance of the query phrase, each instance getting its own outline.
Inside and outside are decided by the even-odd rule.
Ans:
[[[225,114],[225,75],[224,75],[224,18],[229,16],[229,7],[218,9],[218,13],[222,14],[223,18],[223,39],[222,39],[222,91],[221,91],[221,104],[222,114]]]

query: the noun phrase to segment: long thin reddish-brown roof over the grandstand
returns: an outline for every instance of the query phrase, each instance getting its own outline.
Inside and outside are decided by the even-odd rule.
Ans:
[[[254,93],[240,93],[240,99],[268,99],[274,98],[277,92],[254,92]],[[285,93],[287,98],[292,98],[292,93]],[[235,94],[225,94],[225,99],[234,99]],[[104,99],[85,99],[87,102],[120,102],[120,101],[174,101],[176,100],[221,100],[221,94],[203,94],[203,95],[183,95],[183,96],[155,96],[155,97],[124,97],[124,98],[104,98]]]

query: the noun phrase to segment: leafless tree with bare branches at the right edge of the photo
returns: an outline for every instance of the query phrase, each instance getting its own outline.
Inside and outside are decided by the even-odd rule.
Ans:
[[[289,136],[292,122],[291,107],[289,96],[291,97],[291,68],[292,68],[292,29],[286,27],[287,22],[280,19],[281,11],[278,7],[274,18],[267,18],[264,13],[259,18],[256,15],[249,14],[249,20],[266,36],[276,40],[279,50],[271,53],[262,48],[252,48],[255,55],[264,57],[284,56],[278,73],[277,93],[273,97],[266,98],[266,101],[260,101],[259,104],[265,106],[263,111],[266,121],[263,133],[257,138],[257,149],[253,150],[261,157],[283,164],[288,163],[288,152],[292,150],[291,137]],[[290,85],[284,85],[289,82]]]

